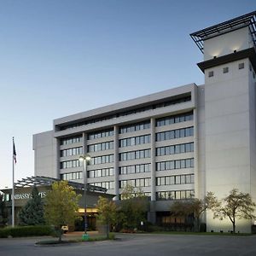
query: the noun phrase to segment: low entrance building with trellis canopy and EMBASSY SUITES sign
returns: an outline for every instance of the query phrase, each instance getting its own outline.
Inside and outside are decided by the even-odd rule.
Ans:
[[[26,177],[15,183],[15,225],[19,224],[19,212],[22,207],[25,207],[26,202],[32,197],[32,188],[36,186],[38,188],[38,195],[44,201],[44,197],[47,196],[47,192],[51,189],[51,184],[61,181],[60,179],[52,177]],[[87,216],[87,230],[96,230],[96,203],[99,196],[107,197],[112,200],[114,195],[107,194],[107,189],[102,187],[87,185],[86,190],[86,207],[84,207],[84,184],[68,182],[68,185],[72,186],[77,194],[81,195],[79,200],[79,211],[77,212],[78,218],[75,220],[73,227],[70,230],[84,230],[84,208],[86,208]],[[11,225],[12,220],[12,189],[0,189],[3,193],[3,198],[8,209],[8,224]]]

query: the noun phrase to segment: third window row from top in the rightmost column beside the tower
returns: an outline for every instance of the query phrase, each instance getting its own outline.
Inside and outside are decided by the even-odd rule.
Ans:
[[[179,154],[194,151],[194,143],[183,143],[172,146],[155,148],[155,155]]]

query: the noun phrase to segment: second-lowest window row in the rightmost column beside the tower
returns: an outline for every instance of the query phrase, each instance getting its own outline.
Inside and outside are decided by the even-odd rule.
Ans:
[[[155,180],[156,186],[186,184],[186,183],[194,183],[194,174],[156,177],[156,180]]]

